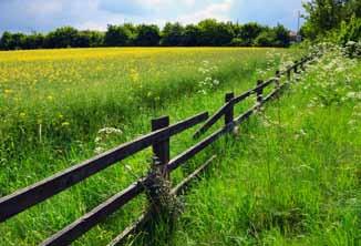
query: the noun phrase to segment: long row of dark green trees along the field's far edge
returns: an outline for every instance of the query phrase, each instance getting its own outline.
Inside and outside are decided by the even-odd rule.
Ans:
[[[3,32],[0,49],[56,49],[94,47],[289,47],[290,34],[283,25],[239,24],[206,19],[197,24],[109,24],[105,32],[58,28],[47,34]]]

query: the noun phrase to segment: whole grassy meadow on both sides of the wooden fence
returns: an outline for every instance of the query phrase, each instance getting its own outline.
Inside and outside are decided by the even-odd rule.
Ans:
[[[153,117],[166,114],[176,122],[214,112],[226,92],[246,91],[301,53],[255,48],[0,52],[0,196],[148,132]],[[359,62],[339,57],[319,61],[239,137],[226,137],[188,163],[219,156],[183,198],[174,245],[357,245],[361,71]],[[337,70],[340,63],[343,70]],[[321,73],[322,68],[328,69]],[[190,146],[190,134],[175,137],[173,155]],[[149,151],[137,154],[0,224],[0,245],[37,245],[142,176],[149,158]],[[187,172],[177,171],[174,181]],[[74,245],[105,245],[145,206],[144,197],[132,202]]]

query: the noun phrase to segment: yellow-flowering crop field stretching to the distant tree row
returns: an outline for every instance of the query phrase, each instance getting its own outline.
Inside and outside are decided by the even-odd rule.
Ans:
[[[126,117],[131,105],[156,107],[216,90],[230,76],[266,65],[266,53],[231,48],[0,52],[1,137],[7,148],[17,148],[48,136],[83,136],[99,129],[100,116]]]

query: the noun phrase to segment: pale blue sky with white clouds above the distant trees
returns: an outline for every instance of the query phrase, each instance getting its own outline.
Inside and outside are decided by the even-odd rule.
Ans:
[[[197,23],[206,18],[297,29],[301,0],[0,0],[0,33],[48,32],[63,25],[106,30],[107,24]]]

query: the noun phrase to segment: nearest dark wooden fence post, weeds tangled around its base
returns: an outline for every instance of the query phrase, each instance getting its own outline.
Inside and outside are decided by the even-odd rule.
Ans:
[[[169,126],[169,116],[163,116],[152,120],[152,131],[157,131],[164,127]],[[153,144],[153,153],[156,156],[155,167],[162,173],[165,180],[169,178],[168,173],[166,172],[166,165],[169,162],[169,137]]]

